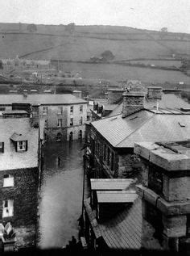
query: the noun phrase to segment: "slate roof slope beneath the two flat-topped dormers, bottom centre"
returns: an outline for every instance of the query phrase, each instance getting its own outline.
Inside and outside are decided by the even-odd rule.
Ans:
[[[117,216],[99,224],[96,213],[92,211],[89,200],[85,200],[85,211],[96,238],[103,237],[110,249],[117,250],[162,250],[162,247],[149,232],[150,226],[142,218],[142,200],[134,201],[130,207],[126,206]],[[151,228],[152,230],[152,228]]]

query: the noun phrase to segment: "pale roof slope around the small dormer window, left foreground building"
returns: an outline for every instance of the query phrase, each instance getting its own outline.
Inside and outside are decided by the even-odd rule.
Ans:
[[[27,140],[27,151],[16,152],[10,138],[18,135]],[[0,170],[35,168],[38,166],[39,128],[31,127],[30,118],[0,119],[0,142],[4,142],[4,153],[0,153]]]

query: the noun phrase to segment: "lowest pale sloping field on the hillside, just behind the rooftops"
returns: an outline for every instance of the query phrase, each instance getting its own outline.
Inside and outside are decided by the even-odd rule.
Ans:
[[[114,81],[138,79],[142,82],[185,82],[190,85],[190,78],[178,71],[159,69],[143,69],[138,67],[109,65],[109,64],[83,64],[65,63],[64,71],[73,70],[81,74],[82,78],[102,78]]]

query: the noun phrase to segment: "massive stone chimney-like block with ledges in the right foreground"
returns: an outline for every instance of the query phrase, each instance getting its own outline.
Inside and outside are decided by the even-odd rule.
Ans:
[[[163,248],[190,252],[190,141],[137,143],[142,159],[143,217],[155,227]]]

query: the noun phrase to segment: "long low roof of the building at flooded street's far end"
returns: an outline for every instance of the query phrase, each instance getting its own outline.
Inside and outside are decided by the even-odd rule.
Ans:
[[[87,102],[72,94],[27,94],[27,96],[24,96],[23,94],[0,94],[0,105],[10,105],[11,103],[40,103],[42,105],[56,105]]]

